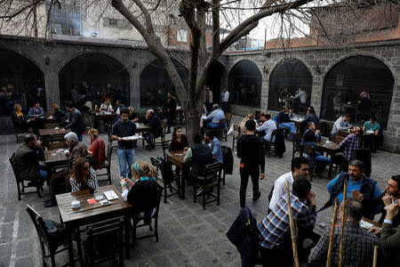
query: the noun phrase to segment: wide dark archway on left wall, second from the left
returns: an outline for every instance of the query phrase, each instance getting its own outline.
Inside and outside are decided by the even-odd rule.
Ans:
[[[102,54],[87,53],[69,61],[60,70],[60,99],[76,101],[76,93],[84,95],[83,82],[92,88],[92,101],[99,103],[105,96],[113,102],[121,99],[124,105],[129,105],[129,73],[119,61]],[[110,88],[107,84],[110,83]],[[73,93],[73,89],[77,92]],[[81,101],[81,102],[79,102]],[[82,99],[77,104],[83,104]]]

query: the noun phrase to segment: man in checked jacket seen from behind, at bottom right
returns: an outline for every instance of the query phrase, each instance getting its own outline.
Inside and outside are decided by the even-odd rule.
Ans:
[[[340,208],[340,217],[343,212],[342,209]],[[380,245],[380,239],[360,227],[360,221],[363,217],[363,205],[359,201],[356,201],[356,199],[348,199],[346,215],[347,219],[343,233],[343,237],[346,237],[343,239],[343,266],[372,266],[373,249],[375,246],[378,246],[380,249],[378,252],[378,266],[383,266],[384,252]],[[340,230],[340,227],[335,227],[333,233],[332,266],[338,266],[339,263]],[[308,257],[308,263],[311,266],[325,266],[328,247],[329,232],[325,233],[319,239],[316,247],[312,248]]]

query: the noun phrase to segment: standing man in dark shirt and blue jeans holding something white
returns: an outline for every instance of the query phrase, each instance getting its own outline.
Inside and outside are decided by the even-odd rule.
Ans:
[[[111,138],[118,141],[118,163],[119,172],[122,177],[132,177],[131,166],[135,162],[134,143],[123,140],[123,137],[136,134],[136,124],[129,119],[129,109],[121,109],[121,119],[114,125],[111,132]]]

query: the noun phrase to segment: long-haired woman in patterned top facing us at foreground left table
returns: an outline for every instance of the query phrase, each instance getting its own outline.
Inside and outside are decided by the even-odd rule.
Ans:
[[[79,158],[74,164],[73,170],[71,178],[69,178],[73,192],[99,188],[96,173],[91,168],[87,158]]]

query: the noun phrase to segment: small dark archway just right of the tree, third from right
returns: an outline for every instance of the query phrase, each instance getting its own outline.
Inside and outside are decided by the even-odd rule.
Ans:
[[[229,71],[229,101],[233,104],[260,107],[262,77],[252,61],[239,61]]]

